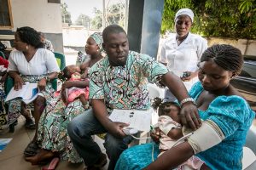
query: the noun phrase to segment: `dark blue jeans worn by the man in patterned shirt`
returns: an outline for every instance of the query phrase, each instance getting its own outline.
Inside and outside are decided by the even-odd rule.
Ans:
[[[86,166],[93,166],[102,155],[102,151],[98,144],[91,138],[91,135],[107,133],[107,130],[98,122],[96,116],[94,116],[93,111],[90,109],[74,117],[68,123],[67,133],[73,142],[73,146],[84,159],[84,164]],[[128,148],[131,140],[131,136],[119,139],[107,133],[104,147],[110,160],[108,170],[114,169],[119,155]]]

